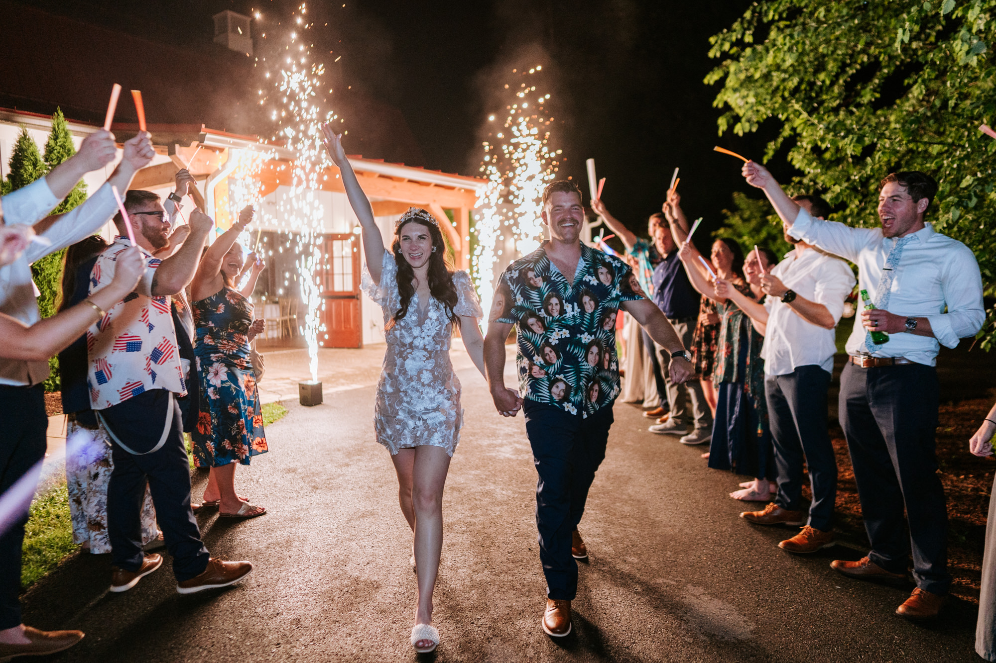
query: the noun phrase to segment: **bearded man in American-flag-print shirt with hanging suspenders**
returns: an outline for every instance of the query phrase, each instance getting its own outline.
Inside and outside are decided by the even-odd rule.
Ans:
[[[126,591],[162,563],[143,554],[141,496],[147,482],[156,517],[173,557],[177,591],[192,593],[238,582],[252,570],[248,561],[211,557],[200,540],[190,507],[190,470],[175,398],[192,377],[184,371],[182,345],[169,298],[193,278],[200,250],[214,222],[190,214],[190,235],[176,253],[159,260],[152,253],[168,242],[169,223],[159,197],[130,190],[124,208],[148,270],[133,296],[107,312],[88,332],[91,407],[114,445],[108,486],[108,531],[112,546],[111,591]],[[115,217],[119,232],[124,218]],[[91,293],[114,277],[127,240],[119,236],[91,272]],[[182,334],[182,332],[181,332]]]

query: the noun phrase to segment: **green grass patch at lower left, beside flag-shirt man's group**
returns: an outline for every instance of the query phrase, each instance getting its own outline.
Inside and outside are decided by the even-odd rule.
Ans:
[[[36,495],[31,503],[28,524],[24,527],[21,586],[30,587],[77,549],[79,546],[73,543],[69,493],[63,480]]]

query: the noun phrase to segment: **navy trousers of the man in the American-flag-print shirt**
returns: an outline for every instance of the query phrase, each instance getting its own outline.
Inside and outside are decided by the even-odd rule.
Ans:
[[[141,454],[130,454],[113,443],[115,469],[108,483],[108,539],[112,563],[125,570],[138,570],[144,556],[140,512],[147,482],[155,520],[166,550],[173,557],[173,574],[182,581],[200,575],[210,555],[190,510],[190,464],[179,408],[172,409],[165,444],[158,451],[142,453],[159,441],[171,398],[173,394],[165,389],[152,389],[101,410],[115,436]]]

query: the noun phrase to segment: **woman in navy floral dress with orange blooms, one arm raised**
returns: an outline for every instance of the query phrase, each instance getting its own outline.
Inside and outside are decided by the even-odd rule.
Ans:
[[[235,492],[235,466],[249,465],[266,453],[263,412],[249,359],[249,342],[263,331],[253,321],[253,305],[235,290],[242,270],[242,247],[235,242],[252,220],[247,207],[201,258],[190,284],[196,326],[194,354],[200,380],[200,417],[193,438],[197,467],[209,467],[204,507],[218,507],[222,518],[255,518],[264,507],[249,504]]]

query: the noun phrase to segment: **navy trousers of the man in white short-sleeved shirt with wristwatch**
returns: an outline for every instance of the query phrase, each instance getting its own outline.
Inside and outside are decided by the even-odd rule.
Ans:
[[[768,422],[775,440],[778,497],[782,509],[803,508],[803,462],[809,465],[809,526],[829,532],[837,500],[837,458],[827,430],[830,373],[816,364],[797,366],[787,375],[766,375]]]

